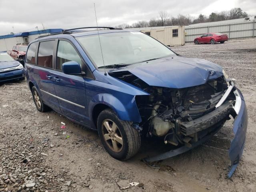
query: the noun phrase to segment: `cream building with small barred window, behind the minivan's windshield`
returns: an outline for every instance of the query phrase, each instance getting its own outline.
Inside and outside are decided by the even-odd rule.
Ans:
[[[180,46],[185,44],[184,26],[142,27],[129,29],[144,32],[166,46]]]

